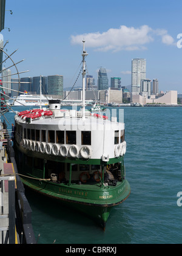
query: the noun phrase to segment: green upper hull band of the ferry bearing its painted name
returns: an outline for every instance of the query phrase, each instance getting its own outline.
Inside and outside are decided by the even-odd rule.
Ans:
[[[21,178],[22,179],[22,178]],[[89,204],[92,206],[110,207],[123,202],[130,194],[129,182],[125,179],[118,182],[116,186],[107,188],[99,185],[65,185],[55,184],[47,181],[31,182],[22,179],[22,182],[37,192],[53,198],[61,199],[78,204]],[[94,186],[94,189],[93,189]]]

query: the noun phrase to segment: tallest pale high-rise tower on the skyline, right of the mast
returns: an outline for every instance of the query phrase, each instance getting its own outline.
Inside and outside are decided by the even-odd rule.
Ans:
[[[139,94],[141,80],[146,79],[146,60],[144,58],[133,58],[132,60],[132,94]]]

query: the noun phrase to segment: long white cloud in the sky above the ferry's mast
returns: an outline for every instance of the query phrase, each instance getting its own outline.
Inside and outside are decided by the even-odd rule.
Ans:
[[[100,33],[84,33],[83,35],[72,35],[72,44],[82,44],[83,39],[87,47],[93,47],[96,51],[107,52],[112,50],[146,50],[146,44],[152,42],[155,36],[161,36],[162,43],[173,44],[174,39],[167,34],[167,30],[153,30],[147,25],[139,28],[120,26],[119,29],[109,29]]]

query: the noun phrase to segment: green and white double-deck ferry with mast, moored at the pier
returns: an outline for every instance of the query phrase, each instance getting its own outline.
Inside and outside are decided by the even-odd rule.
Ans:
[[[24,185],[89,215],[105,229],[112,207],[130,194],[124,123],[85,111],[84,41],[82,56],[81,111],[49,100],[49,109],[18,112],[13,147]]]

